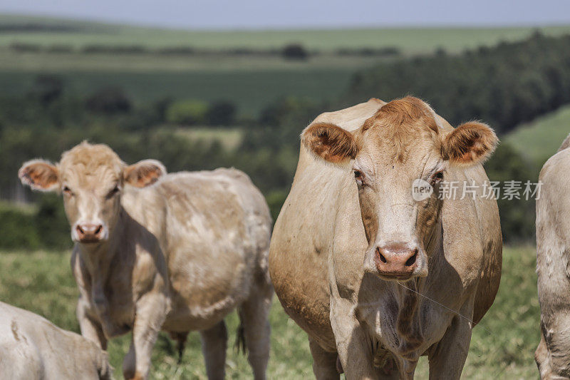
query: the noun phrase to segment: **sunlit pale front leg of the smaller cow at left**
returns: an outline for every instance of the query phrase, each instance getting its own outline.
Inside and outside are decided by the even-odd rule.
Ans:
[[[147,379],[150,371],[150,356],[165,322],[168,302],[164,294],[146,294],[136,304],[133,339],[123,361],[125,379]]]

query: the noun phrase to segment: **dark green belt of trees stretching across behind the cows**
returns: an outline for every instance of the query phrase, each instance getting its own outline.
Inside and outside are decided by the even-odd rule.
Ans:
[[[119,89],[100,89],[86,98],[69,98],[65,83],[58,78],[39,77],[28,96],[0,98],[0,198],[36,200],[36,212],[41,212],[41,220],[46,221],[42,226],[30,224],[42,228],[42,233],[9,233],[14,239],[35,236],[36,243],[22,244],[13,239],[12,244],[55,247],[63,239],[48,240],[58,236],[55,230],[68,234],[61,201],[24,192],[19,185],[17,170],[30,158],[57,161],[64,150],[87,139],[107,143],[128,163],[156,158],[172,172],[234,166],[252,177],[276,217],[293,178],[299,133],[318,113],[370,97],[390,100],[412,93],[430,101],[437,113],[451,123],[480,118],[504,133],[570,101],[569,47],[570,37],[536,35],[521,43],[480,48],[460,56],[440,52],[383,64],[356,73],[345,96],[331,103],[299,98],[270,103],[257,120],[242,124],[242,141],[232,149],[212,140],[190,140],[175,128],[164,126],[232,124],[235,109],[229,103],[164,100],[136,106]],[[234,122],[239,124],[239,120]],[[507,144],[499,146],[486,168],[492,180],[537,178],[536,166],[525,162]],[[499,210],[507,241],[532,237],[533,202],[501,200]],[[9,225],[19,225],[14,222],[17,217],[14,210],[3,211],[0,207],[0,231],[11,231]],[[0,244],[3,241],[9,240],[0,239]]]

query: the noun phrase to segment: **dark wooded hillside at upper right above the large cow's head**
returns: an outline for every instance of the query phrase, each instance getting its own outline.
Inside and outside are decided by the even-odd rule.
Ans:
[[[450,123],[481,119],[499,133],[570,102],[570,36],[538,32],[526,41],[444,51],[356,73],[341,105],[413,94]]]

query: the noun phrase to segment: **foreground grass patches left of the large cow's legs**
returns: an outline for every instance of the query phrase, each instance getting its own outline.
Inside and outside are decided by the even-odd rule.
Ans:
[[[46,252],[0,254],[0,299],[17,307],[31,310],[53,323],[74,332],[79,331],[75,317],[76,284],[71,275],[69,253]],[[227,377],[251,377],[247,359],[233,348],[237,315],[226,320],[229,331]],[[271,310],[271,362],[273,379],[301,379],[309,375],[309,344],[304,333],[288,319],[275,302]],[[115,378],[121,379],[123,357],[128,351],[130,336],[113,339],[108,347]],[[152,379],[205,379],[199,336],[190,334],[181,366],[177,366],[175,344],[167,334],[160,334],[152,355]]]

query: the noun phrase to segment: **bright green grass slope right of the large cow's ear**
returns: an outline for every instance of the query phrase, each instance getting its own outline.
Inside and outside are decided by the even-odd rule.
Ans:
[[[532,123],[520,125],[503,140],[541,168],[570,133],[570,106],[548,113]]]

